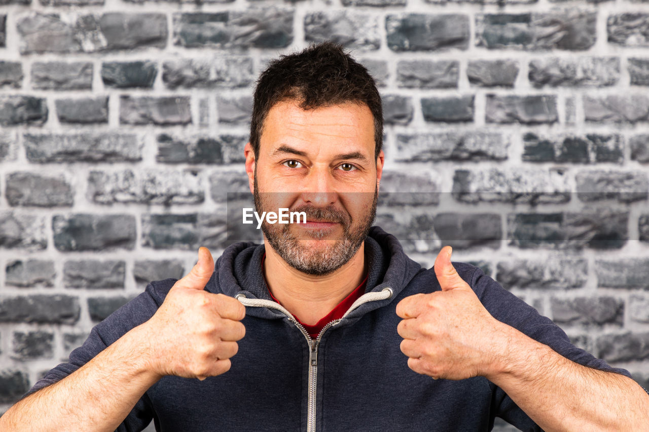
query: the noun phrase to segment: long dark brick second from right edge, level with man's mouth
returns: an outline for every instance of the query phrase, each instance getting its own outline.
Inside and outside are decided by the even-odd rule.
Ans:
[[[509,245],[519,248],[621,248],[628,240],[628,211],[609,208],[508,216]]]

